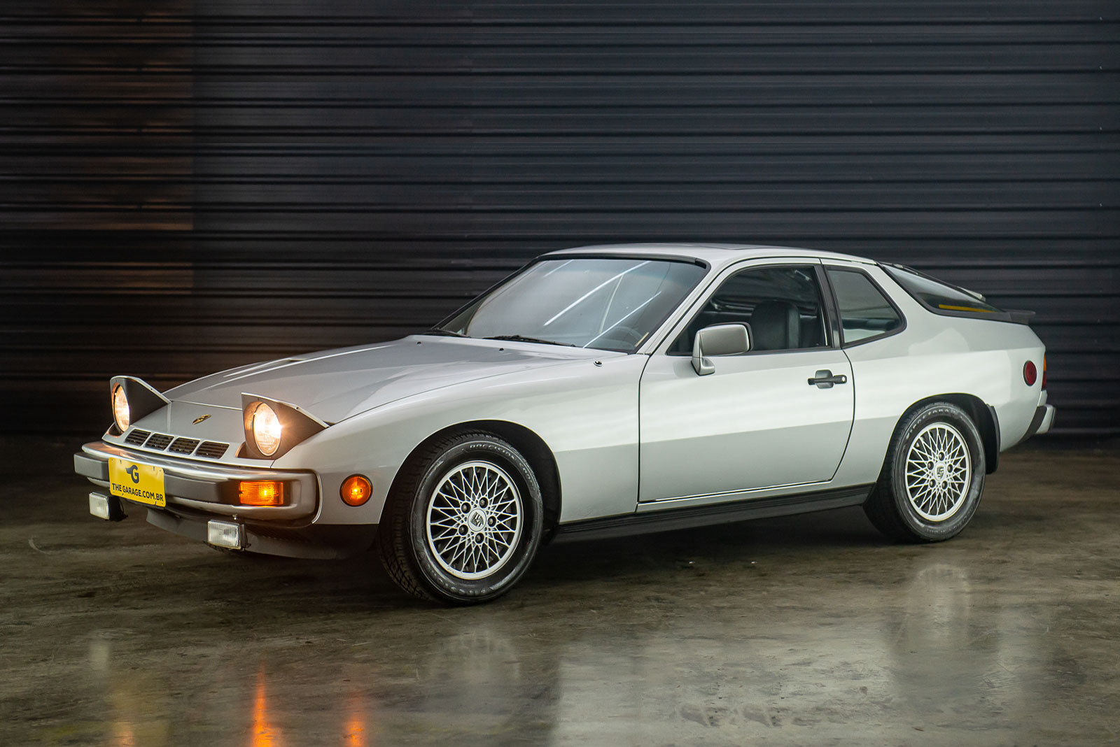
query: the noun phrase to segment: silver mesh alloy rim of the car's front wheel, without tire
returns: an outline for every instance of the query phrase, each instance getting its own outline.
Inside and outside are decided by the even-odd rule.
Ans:
[[[459,464],[428,499],[428,548],[456,578],[485,578],[513,556],[523,513],[521,493],[505,470],[484,461]]]

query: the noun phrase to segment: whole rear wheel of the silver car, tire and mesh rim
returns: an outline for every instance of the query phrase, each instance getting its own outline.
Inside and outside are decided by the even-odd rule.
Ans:
[[[945,540],[976,513],[984,472],[983,444],[972,418],[956,405],[932,403],[898,425],[864,510],[896,540]]]

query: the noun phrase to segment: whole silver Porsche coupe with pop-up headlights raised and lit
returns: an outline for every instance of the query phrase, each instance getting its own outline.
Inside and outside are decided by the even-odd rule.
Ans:
[[[547,254],[427,332],[111,380],[90,511],[233,551],[377,547],[405,590],[507,592],[545,542],[846,505],[960,532],[1049,429],[1029,312],[899,265],[768,246]]]

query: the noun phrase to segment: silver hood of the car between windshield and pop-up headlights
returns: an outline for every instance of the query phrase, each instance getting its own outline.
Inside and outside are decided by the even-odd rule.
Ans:
[[[299,405],[337,423],[380,405],[529,368],[623,353],[584,348],[413,335],[282,358],[188,381],[168,399],[241,409],[249,393]]]

